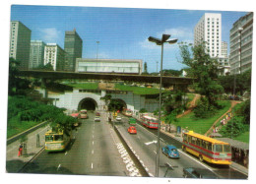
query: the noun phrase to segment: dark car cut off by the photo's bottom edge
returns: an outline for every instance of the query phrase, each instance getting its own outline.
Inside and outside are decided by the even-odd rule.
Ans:
[[[186,167],[183,168],[183,177],[184,178],[204,178],[204,179],[218,179],[216,175],[211,170],[205,168],[196,168],[196,167]]]

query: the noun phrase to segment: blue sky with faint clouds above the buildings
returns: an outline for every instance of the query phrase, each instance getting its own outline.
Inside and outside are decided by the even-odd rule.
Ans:
[[[222,14],[222,37],[229,45],[232,24],[247,12],[12,5],[10,18],[26,25],[32,40],[57,43],[62,48],[65,31],[76,29],[83,39],[83,58],[141,59],[151,73],[157,68],[160,71],[160,46],[148,37],[167,33],[178,42],[193,43],[194,27],[205,13]],[[163,69],[181,70],[186,66],[180,61],[178,44],[164,44]]]

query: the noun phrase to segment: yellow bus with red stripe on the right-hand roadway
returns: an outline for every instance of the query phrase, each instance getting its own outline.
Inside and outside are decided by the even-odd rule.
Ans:
[[[189,131],[183,133],[182,150],[199,157],[200,161],[229,165],[231,149],[228,143]]]

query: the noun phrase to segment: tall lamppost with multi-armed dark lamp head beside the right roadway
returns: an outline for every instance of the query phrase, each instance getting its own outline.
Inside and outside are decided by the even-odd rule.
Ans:
[[[160,116],[161,116],[161,84],[162,84],[162,55],[163,55],[163,43],[173,44],[176,43],[178,39],[168,39],[170,34],[162,34],[161,39],[150,36],[148,39],[151,42],[155,42],[157,45],[161,46],[160,54],[160,111],[159,111],[159,125],[158,125],[158,143],[157,143],[157,157],[156,157],[156,176],[159,177],[159,167],[160,167]]]

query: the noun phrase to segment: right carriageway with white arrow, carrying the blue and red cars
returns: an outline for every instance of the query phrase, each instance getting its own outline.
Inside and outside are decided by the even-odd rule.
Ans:
[[[133,150],[139,155],[140,159],[149,169],[152,175],[156,173],[156,156],[157,156],[157,130],[148,129],[137,123],[137,134],[130,135],[127,131],[129,127],[128,118],[122,117],[122,123],[118,124],[118,130],[121,132],[122,136],[128,140],[129,145]],[[174,145],[177,147],[180,158],[173,159],[168,158],[166,155],[160,152],[160,177],[170,177],[170,178],[182,178],[183,168],[185,167],[197,167],[206,170],[210,170],[218,175],[222,179],[247,179],[247,176],[226,166],[217,166],[208,163],[202,163],[199,159],[189,153],[183,153],[181,150],[181,143],[175,139],[166,136],[165,134],[160,134],[160,148],[165,145]],[[165,163],[168,163],[174,167],[173,170],[167,170],[164,167]]]

